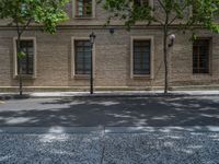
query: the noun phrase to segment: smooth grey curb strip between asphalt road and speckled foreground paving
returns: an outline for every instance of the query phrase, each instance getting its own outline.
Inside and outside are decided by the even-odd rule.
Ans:
[[[219,132],[218,126],[191,126],[191,127],[0,127],[2,133],[28,134],[92,134],[92,133],[151,133],[151,132]]]

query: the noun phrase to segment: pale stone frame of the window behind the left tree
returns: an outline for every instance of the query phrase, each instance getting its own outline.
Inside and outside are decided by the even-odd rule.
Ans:
[[[18,37],[13,37],[13,63],[14,63],[14,67],[13,67],[13,78],[18,78],[19,75],[19,72],[18,72],[18,47],[16,47],[16,40],[18,40]],[[33,55],[33,74],[22,74],[23,78],[26,78],[26,79],[35,79],[36,78],[36,65],[37,65],[37,45],[36,45],[36,37],[21,37],[21,40],[33,40],[33,51],[34,51],[34,55]]]

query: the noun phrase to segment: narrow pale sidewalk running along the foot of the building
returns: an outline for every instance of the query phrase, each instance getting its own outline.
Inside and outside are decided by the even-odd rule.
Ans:
[[[219,96],[219,91],[169,91],[168,95],[163,91],[107,91],[95,92],[33,92],[24,93],[24,98],[44,97],[131,97],[131,96]],[[18,93],[0,93],[0,99],[19,98]]]

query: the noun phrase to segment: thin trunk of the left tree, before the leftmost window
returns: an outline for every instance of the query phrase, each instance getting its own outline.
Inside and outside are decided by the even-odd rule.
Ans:
[[[18,55],[21,52],[21,35],[19,34],[18,37]],[[18,58],[18,70],[19,70],[19,94],[22,96],[23,95],[23,79],[22,79],[22,67],[21,67],[21,57],[19,57],[16,55]]]

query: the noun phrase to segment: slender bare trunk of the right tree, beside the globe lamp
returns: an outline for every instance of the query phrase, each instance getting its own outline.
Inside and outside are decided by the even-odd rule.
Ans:
[[[169,63],[168,63],[168,26],[163,28],[163,58],[164,58],[164,71],[165,71],[165,82],[164,82],[164,94],[169,91]]]

